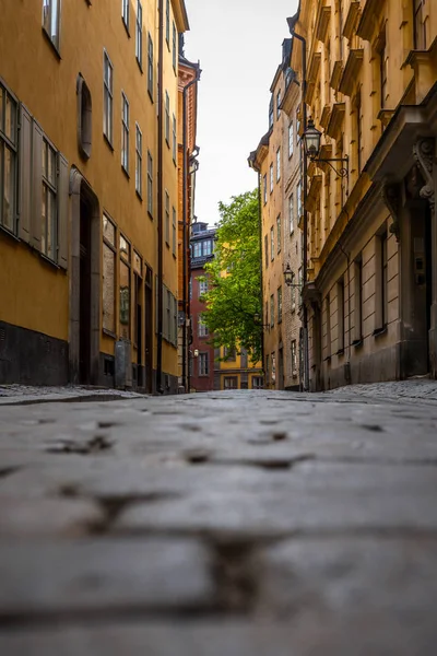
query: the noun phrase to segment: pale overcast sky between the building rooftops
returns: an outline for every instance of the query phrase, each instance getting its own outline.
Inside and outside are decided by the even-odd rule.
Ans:
[[[186,0],[186,57],[199,84],[196,214],[211,225],[217,203],[253,189],[247,157],[269,128],[270,85],[298,0]]]

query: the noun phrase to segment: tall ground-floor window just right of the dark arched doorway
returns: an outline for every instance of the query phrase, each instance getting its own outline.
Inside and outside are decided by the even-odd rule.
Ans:
[[[103,329],[116,332],[116,226],[103,215]]]

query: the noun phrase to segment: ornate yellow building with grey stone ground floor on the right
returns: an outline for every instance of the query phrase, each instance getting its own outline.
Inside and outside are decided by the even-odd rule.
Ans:
[[[310,388],[436,376],[437,5],[302,0],[291,23],[321,132],[305,200]],[[297,39],[291,65],[302,79]]]

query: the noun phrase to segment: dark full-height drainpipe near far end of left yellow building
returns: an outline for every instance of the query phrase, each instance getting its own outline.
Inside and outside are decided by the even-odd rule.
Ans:
[[[164,86],[164,0],[158,0],[160,12],[160,62],[157,94],[157,355],[156,391],[164,394],[163,387],[163,86]]]

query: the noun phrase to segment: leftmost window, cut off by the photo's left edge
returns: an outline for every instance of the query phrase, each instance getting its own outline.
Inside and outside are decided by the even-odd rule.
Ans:
[[[0,225],[12,233],[17,229],[16,153],[17,103],[0,83]]]

